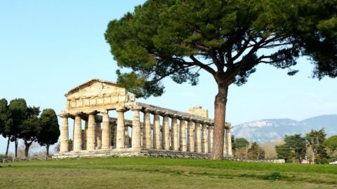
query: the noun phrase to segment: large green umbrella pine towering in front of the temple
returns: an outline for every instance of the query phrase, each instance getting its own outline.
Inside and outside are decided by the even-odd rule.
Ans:
[[[159,96],[163,78],[197,85],[213,76],[211,159],[223,158],[228,87],[246,83],[258,64],[289,69],[298,57],[313,76],[337,76],[337,1],[147,0],[112,20],[105,32],[118,66],[117,83],[136,97]]]

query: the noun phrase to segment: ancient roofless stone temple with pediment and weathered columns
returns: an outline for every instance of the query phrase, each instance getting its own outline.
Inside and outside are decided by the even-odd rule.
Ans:
[[[185,113],[136,102],[126,89],[99,79],[74,87],[65,97],[66,109],[59,114],[60,151],[54,158],[149,153],[188,158],[211,152],[213,120],[201,106]],[[109,111],[116,111],[117,118],[110,118]],[[124,118],[126,111],[133,112],[132,120]],[[70,118],[74,120],[72,151],[68,148]],[[224,155],[231,156],[230,124],[226,125],[224,148]]]

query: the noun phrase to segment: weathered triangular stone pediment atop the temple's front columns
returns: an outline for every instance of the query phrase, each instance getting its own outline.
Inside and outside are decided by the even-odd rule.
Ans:
[[[65,94],[67,109],[79,109],[93,106],[107,106],[133,101],[125,88],[107,80],[92,79]],[[130,98],[131,97],[131,98]]]

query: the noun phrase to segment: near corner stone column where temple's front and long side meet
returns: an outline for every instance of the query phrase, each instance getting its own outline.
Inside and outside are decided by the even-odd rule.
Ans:
[[[133,118],[132,118],[132,141],[131,147],[135,150],[140,149],[140,113],[139,111],[142,107],[133,107]]]

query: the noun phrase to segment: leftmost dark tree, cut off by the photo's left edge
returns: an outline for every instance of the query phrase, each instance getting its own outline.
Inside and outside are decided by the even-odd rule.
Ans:
[[[11,141],[11,112],[9,111],[8,102],[6,99],[0,99],[0,134],[7,139],[6,156],[8,156],[9,143]]]

